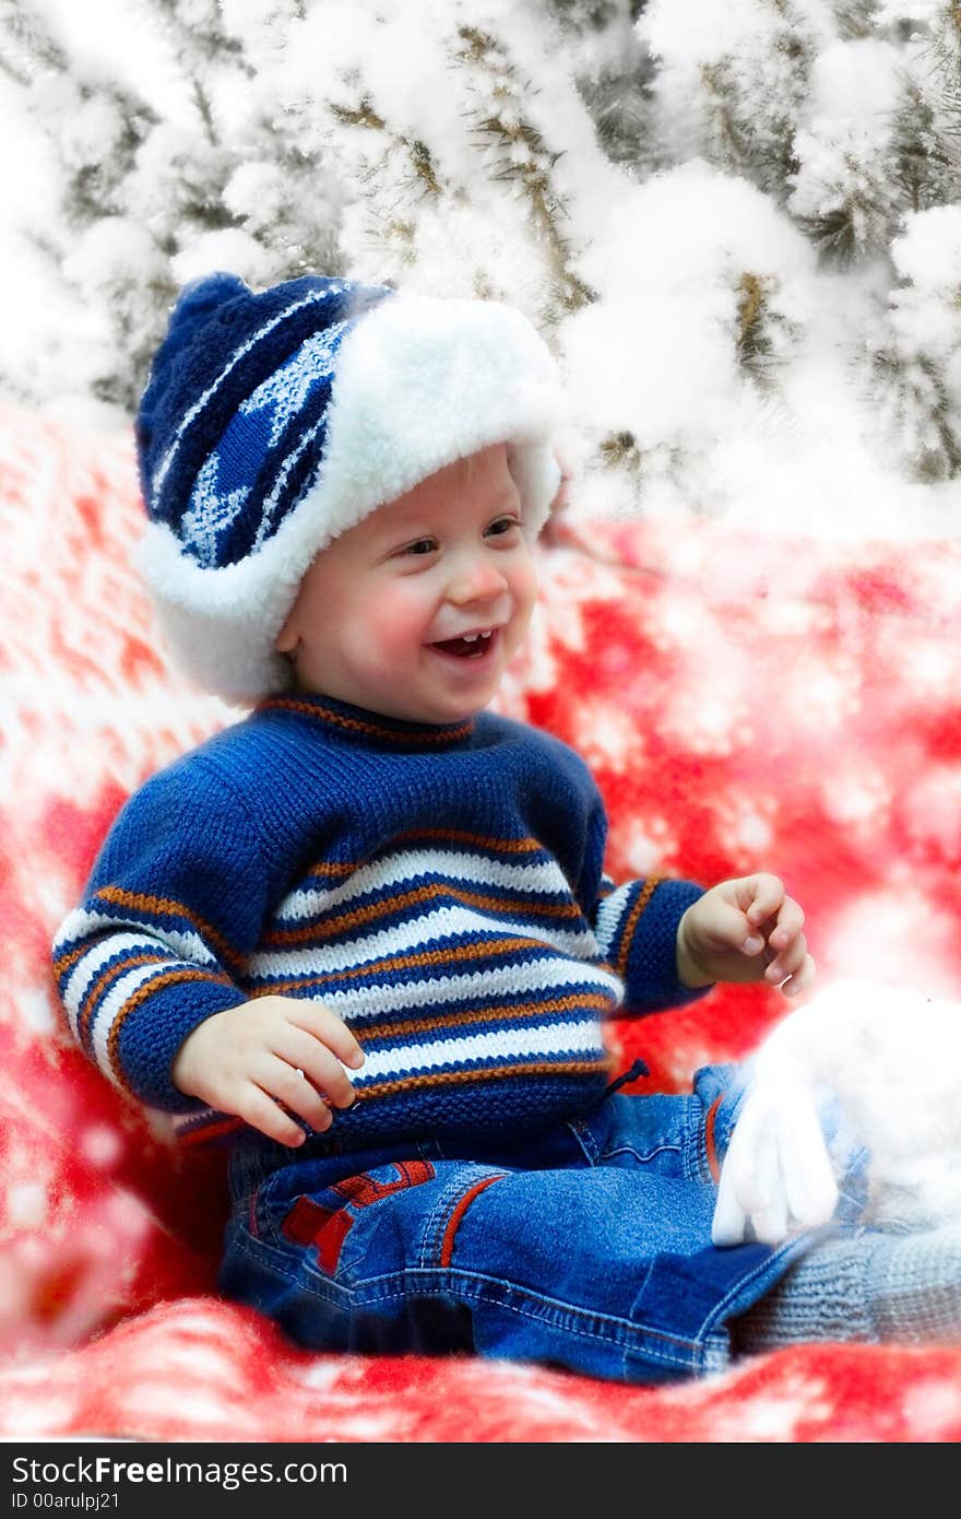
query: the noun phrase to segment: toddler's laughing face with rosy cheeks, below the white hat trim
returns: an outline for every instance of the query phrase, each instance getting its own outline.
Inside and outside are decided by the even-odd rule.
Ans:
[[[298,685],[454,723],[501,684],[536,577],[504,444],[439,469],[323,548],[276,639]]]

